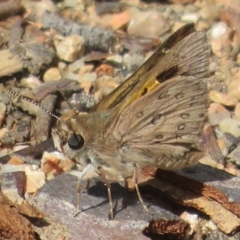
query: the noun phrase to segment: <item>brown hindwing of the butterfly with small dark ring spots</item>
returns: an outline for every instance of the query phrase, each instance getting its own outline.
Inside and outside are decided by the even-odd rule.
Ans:
[[[206,84],[177,76],[128,106],[113,129],[125,161],[165,169],[199,160],[205,113]]]

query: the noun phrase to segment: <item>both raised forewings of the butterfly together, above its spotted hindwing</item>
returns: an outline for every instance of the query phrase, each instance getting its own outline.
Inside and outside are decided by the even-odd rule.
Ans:
[[[105,97],[92,111],[112,109],[133,101],[170,77],[186,74],[206,76],[209,67],[209,45],[204,32],[195,32],[194,24],[187,24],[172,34],[156,52],[124,83]],[[154,69],[154,70],[153,70]],[[155,80],[158,81],[155,81]]]

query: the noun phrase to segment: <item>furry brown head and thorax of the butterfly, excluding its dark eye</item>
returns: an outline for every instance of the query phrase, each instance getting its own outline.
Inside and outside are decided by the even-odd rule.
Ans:
[[[88,164],[93,165],[95,172],[89,173],[88,178],[97,176],[99,167],[104,169],[109,179],[117,181],[133,173],[133,164],[127,163],[118,154],[121,142],[109,134],[110,126],[114,126],[116,111],[117,108],[89,114],[70,111],[62,116],[63,122],[58,122],[64,154],[76,162],[81,170]],[[83,137],[84,145],[81,149],[69,147],[68,139],[72,134]]]

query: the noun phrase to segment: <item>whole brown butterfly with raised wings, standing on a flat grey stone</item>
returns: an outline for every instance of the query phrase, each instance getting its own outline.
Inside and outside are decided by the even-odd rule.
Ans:
[[[206,33],[187,24],[89,113],[70,110],[61,117],[53,139],[81,171],[77,212],[83,179],[102,178],[113,219],[110,180],[131,177],[148,211],[138,189],[139,169],[174,170],[201,159],[209,59]]]

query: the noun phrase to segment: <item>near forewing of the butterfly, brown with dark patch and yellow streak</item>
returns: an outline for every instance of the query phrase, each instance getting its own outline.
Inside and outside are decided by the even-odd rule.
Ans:
[[[209,56],[210,48],[206,33],[194,32],[185,37],[180,43],[176,44],[174,49],[170,49],[155,66],[139,80],[126,99],[118,104],[118,113],[115,120],[122,114],[122,111],[148,94],[144,87],[149,79],[156,78],[158,82],[164,83],[175,76],[194,76],[203,78],[209,75]],[[156,87],[158,87],[156,85]],[[150,91],[151,92],[151,91]]]

